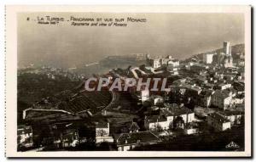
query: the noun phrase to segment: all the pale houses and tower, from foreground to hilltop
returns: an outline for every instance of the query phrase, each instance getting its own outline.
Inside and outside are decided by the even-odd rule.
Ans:
[[[114,137],[110,131],[111,123],[96,122],[94,142],[97,144],[115,143],[119,151],[126,151],[161,142],[160,136],[170,136],[172,131],[182,130],[185,135],[199,133],[198,122],[207,122],[215,131],[226,131],[232,126],[244,124],[244,70],[233,66],[230,42],[224,42],[223,53],[205,53],[201,61],[191,59],[180,64],[172,56],[152,59],[149,55],[146,61],[148,73],[158,74],[158,69],[167,70],[168,75],[175,75],[178,79],[167,85],[171,90],[165,92],[165,96],[153,95],[148,90],[133,94],[138,103],[149,103],[147,110],[143,112],[143,125],[139,126],[137,122],[131,121],[127,126],[128,131]],[[137,70],[147,74],[146,70],[130,69],[133,73]],[[129,70],[126,72],[113,70],[109,77],[126,77]],[[206,120],[198,120],[194,112],[195,106],[215,109],[216,112],[208,114]],[[71,125],[65,126],[67,128]],[[53,129],[58,130],[59,127],[55,126]],[[32,137],[32,132],[30,134],[27,131],[30,129],[24,126],[18,129],[18,143],[24,144],[27,138]],[[75,147],[83,141],[78,134],[76,129],[61,131],[55,139],[55,145],[58,148]]]

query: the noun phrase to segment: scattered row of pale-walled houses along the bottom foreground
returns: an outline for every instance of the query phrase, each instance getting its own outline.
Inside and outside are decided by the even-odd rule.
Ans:
[[[215,131],[226,131],[231,126],[243,124],[244,113],[241,111],[220,111],[207,115],[207,124]],[[199,133],[195,113],[177,104],[165,104],[162,107],[151,107],[144,117],[144,126],[141,129],[137,122],[131,121],[127,131],[113,136],[108,121],[96,122],[95,139],[92,142],[114,143],[118,151],[128,151],[138,146],[147,146],[162,142],[162,136],[172,135],[172,131],[181,130],[184,135]],[[80,143],[89,142],[87,138],[79,137],[79,131],[73,128],[73,123],[59,123],[51,126],[54,132],[55,148],[76,147]],[[44,139],[48,140],[48,139]],[[19,126],[18,143],[23,147],[32,147],[32,127]],[[47,144],[47,143],[46,143]]]

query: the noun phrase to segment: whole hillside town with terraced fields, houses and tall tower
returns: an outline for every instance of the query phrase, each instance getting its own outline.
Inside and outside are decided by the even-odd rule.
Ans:
[[[44,74],[49,80],[64,75],[79,84],[22,109],[18,151],[244,149],[244,112],[249,109],[244,104],[244,53],[234,53],[231,43],[224,42],[221,50],[185,60],[139,56],[144,64],[94,77],[166,78],[168,91],[129,87],[119,92],[106,87],[87,92],[87,77],[72,70],[22,70],[20,75]],[[239,147],[226,147],[230,142]]]

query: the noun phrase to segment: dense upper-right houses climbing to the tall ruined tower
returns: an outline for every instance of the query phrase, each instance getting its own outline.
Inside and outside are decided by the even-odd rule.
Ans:
[[[191,59],[180,64],[172,56],[152,59],[147,55],[146,62],[147,67],[153,69],[167,67],[166,70],[170,70],[173,67],[172,70],[181,78],[172,82],[169,87],[181,96],[186,96],[186,100],[191,98],[202,107],[225,110],[241,107],[244,103],[244,69],[232,64],[230,42],[224,42],[223,52],[205,53],[202,60]],[[188,72],[183,74],[180,70]],[[170,74],[173,75],[168,75]],[[142,102],[149,99],[147,91],[142,91],[139,95]]]

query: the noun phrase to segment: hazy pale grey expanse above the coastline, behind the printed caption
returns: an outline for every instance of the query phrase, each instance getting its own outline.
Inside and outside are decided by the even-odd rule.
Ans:
[[[84,18],[141,18],[145,23],[125,27],[38,25],[46,15]],[[192,55],[244,43],[243,14],[117,14],[20,13],[18,14],[18,66],[46,64],[70,68],[99,61],[109,55],[149,53],[186,59]],[[30,20],[27,20],[27,18]]]

